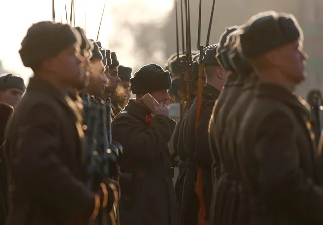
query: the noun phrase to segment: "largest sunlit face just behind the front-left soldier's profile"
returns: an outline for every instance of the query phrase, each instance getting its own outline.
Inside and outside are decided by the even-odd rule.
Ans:
[[[101,60],[92,61],[90,82],[88,93],[95,96],[101,96],[107,87],[108,79],[104,74],[105,68]]]

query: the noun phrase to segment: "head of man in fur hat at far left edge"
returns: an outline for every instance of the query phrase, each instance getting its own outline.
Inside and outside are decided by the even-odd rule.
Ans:
[[[0,76],[0,102],[16,107],[20,102],[26,86],[21,77],[10,73]]]

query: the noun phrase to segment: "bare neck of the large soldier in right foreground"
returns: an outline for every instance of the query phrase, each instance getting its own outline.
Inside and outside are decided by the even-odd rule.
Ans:
[[[275,68],[267,68],[259,70],[258,72],[260,82],[261,83],[270,83],[279,85],[291,93],[295,91],[296,84],[291,80],[287,79],[286,74],[284,74],[281,70]]]

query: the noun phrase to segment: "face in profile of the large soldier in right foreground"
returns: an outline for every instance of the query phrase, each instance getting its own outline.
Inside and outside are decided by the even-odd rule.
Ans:
[[[299,84],[306,77],[305,65],[308,58],[303,51],[303,43],[295,41],[285,45],[277,54],[281,62],[280,68],[287,79],[295,84]]]

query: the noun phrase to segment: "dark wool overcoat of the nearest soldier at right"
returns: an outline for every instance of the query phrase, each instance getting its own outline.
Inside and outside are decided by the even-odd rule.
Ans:
[[[308,124],[309,111],[292,93],[259,86],[238,137],[242,192],[248,200],[239,210],[249,216],[246,224],[323,223],[323,189],[316,186],[321,171]],[[286,182],[276,186],[282,178]]]

